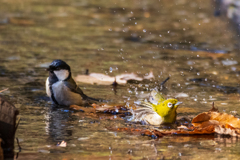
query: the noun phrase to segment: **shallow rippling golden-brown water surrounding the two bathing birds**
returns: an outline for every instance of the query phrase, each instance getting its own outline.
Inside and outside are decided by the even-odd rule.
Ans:
[[[116,94],[110,85],[78,83],[91,97],[132,103],[170,76],[164,94],[184,102],[179,116],[213,101],[221,112],[239,112],[238,35],[213,12],[201,0],[1,1],[0,90],[9,88],[3,95],[20,110],[19,159],[238,159],[237,139],[115,132],[107,128],[131,124],[52,108],[45,94],[45,68],[63,59],[74,76],[86,69],[155,76]],[[62,140],[67,147],[56,147]]]

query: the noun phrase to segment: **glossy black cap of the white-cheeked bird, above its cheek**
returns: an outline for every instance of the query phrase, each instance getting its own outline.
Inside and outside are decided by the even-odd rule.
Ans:
[[[47,68],[47,71],[53,72],[53,71],[59,71],[62,69],[68,70],[68,71],[71,70],[70,66],[66,62],[60,59],[56,59],[50,64],[50,66]]]

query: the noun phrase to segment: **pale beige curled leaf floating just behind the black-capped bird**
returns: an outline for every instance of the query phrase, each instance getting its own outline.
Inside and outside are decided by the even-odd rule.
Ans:
[[[78,75],[75,80],[83,83],[111,85],[115,80],[118,84],[126,84],[129,80],[142,81],[143,79],[153,79],[154,75],[150,72],[147,76],[138,77],[135,73],[126,73],[111,77],[102,73],[91,73],[89,75]]]

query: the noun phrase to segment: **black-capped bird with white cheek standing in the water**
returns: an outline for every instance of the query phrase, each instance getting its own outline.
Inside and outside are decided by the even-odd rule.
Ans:
[[[71,68],[66,62],[54,60],[47,71],[46,92],[56,105],[83,105],[89,100],[100,101],[83,93],[73,80]]]

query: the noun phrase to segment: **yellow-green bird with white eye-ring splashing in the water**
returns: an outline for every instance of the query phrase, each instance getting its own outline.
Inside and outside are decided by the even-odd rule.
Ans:
[[[148,100],[136,102],[139,108],[132,111],[132,121],[155,126],[174,123],[181,103],[177,99],[165,99],[161,93],[153,90]]]

